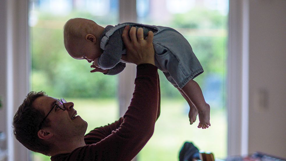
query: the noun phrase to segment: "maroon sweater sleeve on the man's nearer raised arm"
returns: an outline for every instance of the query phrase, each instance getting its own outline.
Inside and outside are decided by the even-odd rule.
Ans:
[[[135,89],[120,127],[97,144],[98,160],[132,160],[153,135],[158,110],[157,67],[151,64],[137,66]]]

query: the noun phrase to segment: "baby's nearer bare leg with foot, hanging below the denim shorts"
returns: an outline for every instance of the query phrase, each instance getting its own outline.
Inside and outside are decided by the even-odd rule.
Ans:
[[[198,128],[208,128],[211,124],[209,123],[209,104],[205,102],[205,98],[202,95],[202,90],[197,82],[190,80],[183,88],[182,91],[188,96],[191,102],[195,105],[200,123]]]

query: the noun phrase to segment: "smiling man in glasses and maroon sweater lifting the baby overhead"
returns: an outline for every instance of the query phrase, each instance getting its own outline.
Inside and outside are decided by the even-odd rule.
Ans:
[[[152,136],[160,113],[153,33],[144,40],[139,29],[137,37],[135,28],[130,29],[131,39],[128,29],[122,34],[127,48],[122,59],[137,65],[133,98],[122,118],[84,136],[87,123],[76,116],[72,102],[30,92],[13,119],[16,139],[32,151],[52,156],[52,161],[132,160]]]

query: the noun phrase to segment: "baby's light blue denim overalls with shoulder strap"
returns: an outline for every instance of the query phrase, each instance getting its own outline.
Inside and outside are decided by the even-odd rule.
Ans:
[[[168,81],[176,88],[182,89],[189,80],[194,79],[204,71],[189,42],[178,31],[170,27],[133,22],[118,24],[106,32],[101,40],[100,47],[104,50],[109,37],[114,31],[127,25],[143,26],[157,30],[154,32],[153,38],[155,66],[164,73]],[[126,54],[126,49],[122,51],[122,54]]]

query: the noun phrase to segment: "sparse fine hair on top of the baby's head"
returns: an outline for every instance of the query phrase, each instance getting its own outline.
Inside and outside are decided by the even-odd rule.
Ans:
[[[63,27],[63,40],[65,48],[71,41],[79,40],[84,38],[88,33],[94,33],[95,25],[97,25],[93,20],[88,20],[84,18],[72,18],[65,23]]]

